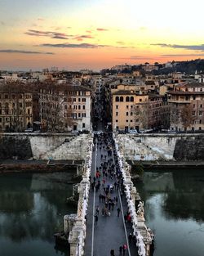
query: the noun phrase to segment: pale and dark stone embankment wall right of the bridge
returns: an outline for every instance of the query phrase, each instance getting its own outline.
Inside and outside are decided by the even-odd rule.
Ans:
[[[130,160],[204,160],[204,134],[119,134],[119,150]]]

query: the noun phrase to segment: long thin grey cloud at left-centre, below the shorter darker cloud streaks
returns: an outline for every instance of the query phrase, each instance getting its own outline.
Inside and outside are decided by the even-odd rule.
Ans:
[[[99,48],[108,47],[108,45],[91,44],[91,43],[43,43],[42,47],[60,47],[60,48]]]

